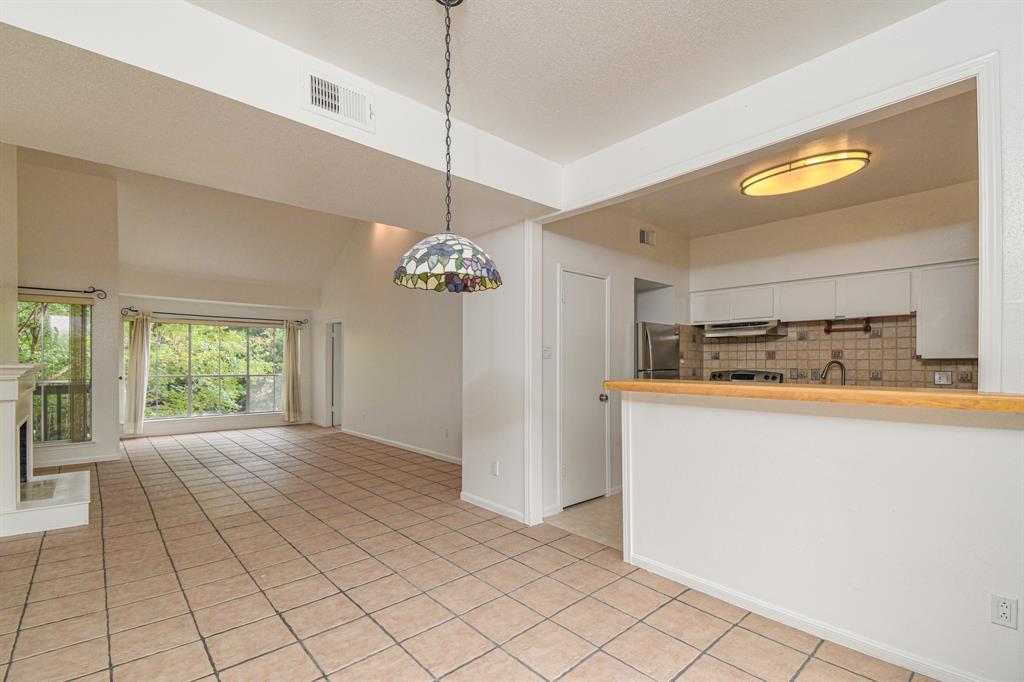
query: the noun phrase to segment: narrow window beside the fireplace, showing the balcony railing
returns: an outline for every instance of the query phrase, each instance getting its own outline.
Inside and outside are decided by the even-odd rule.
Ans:
[[[92,438],[92,302],[25,296],[17,302],[18,361],[41,365],[33,393],[34,442]]]

